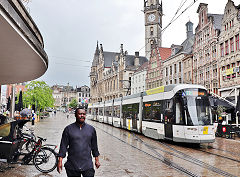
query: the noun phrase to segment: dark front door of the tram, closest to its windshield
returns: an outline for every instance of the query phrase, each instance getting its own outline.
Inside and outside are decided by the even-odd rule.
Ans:
[[[165,113],[164,113],[164,130],[165,130],[165,138],[173,139],[173,109],[172,109],[172,100],[167,101]]]

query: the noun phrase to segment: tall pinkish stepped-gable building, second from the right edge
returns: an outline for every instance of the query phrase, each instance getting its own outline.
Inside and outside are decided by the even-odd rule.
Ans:
[[[223,15],[209,14],[208,4],[204,3],[200,3],[197,13],[199,23],[193,45],[193,83],[218,93],[217,42]]]

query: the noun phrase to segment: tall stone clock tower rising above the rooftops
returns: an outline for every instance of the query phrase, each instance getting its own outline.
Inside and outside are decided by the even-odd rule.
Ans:
[[[145,15],[145,55],[150,59],[154,43],[162,46],[162,2],[159,0],[144,0]]]

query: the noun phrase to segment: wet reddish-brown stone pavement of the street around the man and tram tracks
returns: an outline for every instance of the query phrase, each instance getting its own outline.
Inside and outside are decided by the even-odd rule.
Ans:
[[[57,113],[41,119],[34,127],[37,136],[47,144],[59,145],[64,127],[75,121]],[[240,140],[217,138],[215,143],[192,146],[156,141],[106,124],[86,120],[96,128],[101,167],[97,177],[161,177],[161,176],[240,176]],[[58,149],[57,149],[58,151]],[[66,160],[66,158],[64,159]],[[4,164],[6,165],[6,164]],[[11,165],[14,168],[0,176],[40,177],[66,176],[57,170],[42,174],[33,165]]]

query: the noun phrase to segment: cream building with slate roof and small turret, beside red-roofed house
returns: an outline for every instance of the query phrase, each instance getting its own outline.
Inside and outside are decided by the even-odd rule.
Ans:
[[[193,23],[186,23],[187,38],[181,45],[171,46],[171,56],[163,61],[163,85],[191,83],[192,46],[194,43]],[[184,69],[183,69],[184,67]]]

